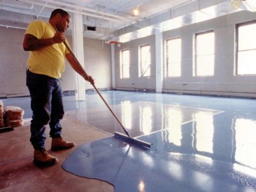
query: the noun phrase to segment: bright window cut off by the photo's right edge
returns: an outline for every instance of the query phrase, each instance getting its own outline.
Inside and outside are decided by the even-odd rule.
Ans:
[[[256,75],[256,22],[236,28],[236,75]]]

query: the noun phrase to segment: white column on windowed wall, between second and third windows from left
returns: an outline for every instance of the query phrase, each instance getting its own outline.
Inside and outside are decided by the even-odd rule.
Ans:
[[[156,33],[156,92],[163,92],[163,33]]]

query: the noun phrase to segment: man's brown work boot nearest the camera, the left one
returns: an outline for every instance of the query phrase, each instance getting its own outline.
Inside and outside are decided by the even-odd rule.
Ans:
[[[55,161],[58,161],[58,159],[48,154],[45,149],[34,151],[33,162],[37,166],[51,166]]]

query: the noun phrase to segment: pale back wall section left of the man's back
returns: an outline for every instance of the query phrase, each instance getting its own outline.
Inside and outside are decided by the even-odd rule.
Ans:
[[[0,96],[28,93],[26,60],[29,54],[22,49],[23,35],[23,29],[0,27]]]

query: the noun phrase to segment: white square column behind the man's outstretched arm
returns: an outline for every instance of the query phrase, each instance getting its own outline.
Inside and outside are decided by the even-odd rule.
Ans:
[[[72,41],[73,52],[84,68],[84,42],[83,42],[83,17],[79,13],[73,13],[72,17]],[[76,73],[76,100],[85,100],[85,81]]]

